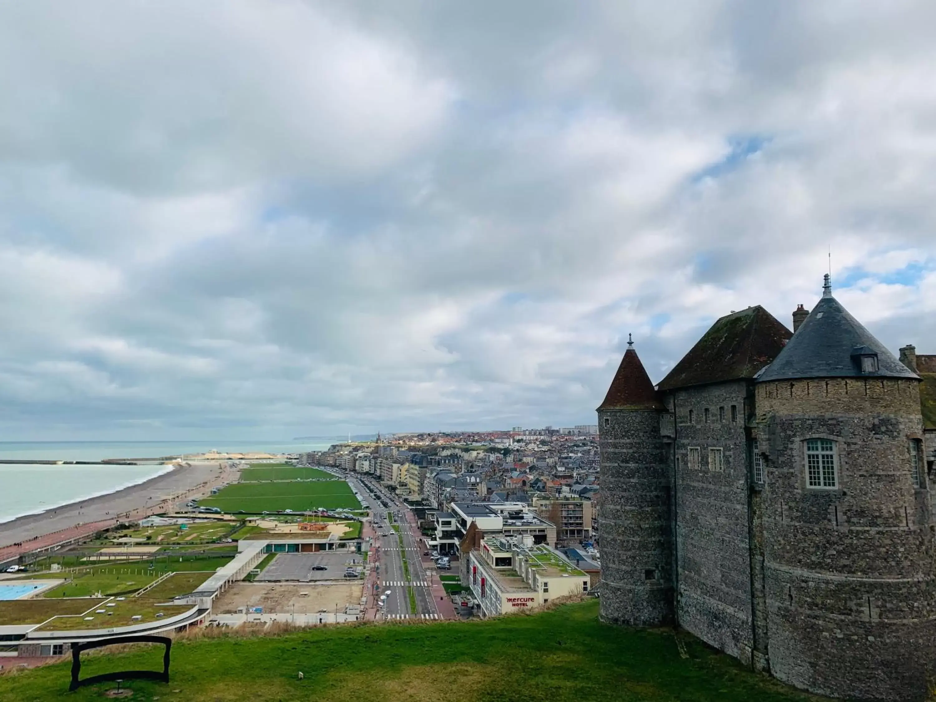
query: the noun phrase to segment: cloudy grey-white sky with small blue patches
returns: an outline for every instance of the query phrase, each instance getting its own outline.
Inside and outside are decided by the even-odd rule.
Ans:
[[[0,0],[0,440],[593,423],[821,292],[936,353],[936,3]]]

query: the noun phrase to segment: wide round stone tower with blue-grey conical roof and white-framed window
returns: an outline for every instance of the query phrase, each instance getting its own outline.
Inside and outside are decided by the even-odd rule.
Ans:
[[[755,402],[771,672],[822,695],[924,699],[936,587],[919,377],[826,276]]]

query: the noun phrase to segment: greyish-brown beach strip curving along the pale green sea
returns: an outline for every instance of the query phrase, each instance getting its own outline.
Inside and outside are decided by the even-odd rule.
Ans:
[[[192,463],[124,490],[55,507],[0,524],[0,562],[20,552],[45,548],[95,532],[109,523],[174,508],[175,503],[211,493],[212,487],[237,480],[239,471],[226,463]]]

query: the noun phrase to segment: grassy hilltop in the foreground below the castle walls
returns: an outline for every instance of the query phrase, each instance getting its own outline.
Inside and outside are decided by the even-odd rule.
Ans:
[[[126,683],[134,700],[366,699],[535,702],[815,699],[741,667],[694,637],[597,620],[596,601],[486,622],[359,625],[280,636],[182,638],[171,681]],[[161,647],[159,648],[161,651]],[[155,650],[88,659],[82,677],[156,667]],[[298,680],[298,672],[305,680]],[[66,694],[68,664],[0,677],[0,700],[101,699],[105,683]]]

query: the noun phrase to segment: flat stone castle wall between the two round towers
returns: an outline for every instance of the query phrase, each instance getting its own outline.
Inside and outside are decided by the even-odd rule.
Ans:
[[[754,647],[747,394],[748,383],[736,381],[683,388],[667,396],[677,416],[679,622],[745,663],[751,661]],[[690,465],[690,447],[699,449],[698,467]],[[709,448],[722,449],[721,470],[709,464]]]

